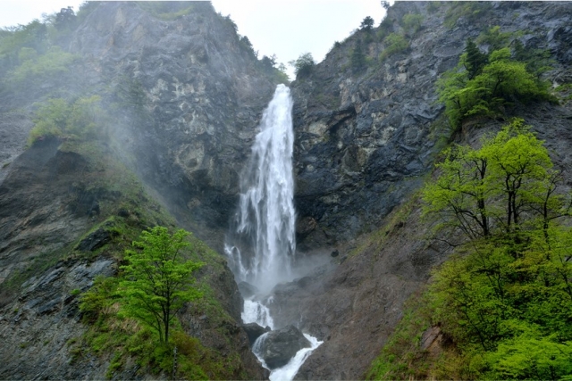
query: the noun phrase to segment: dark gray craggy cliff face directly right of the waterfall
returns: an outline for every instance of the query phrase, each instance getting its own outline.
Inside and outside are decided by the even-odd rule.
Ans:
[[[364,43],[366,32],[357,32],[332,48],[307,79],[293,82],[300,250],[379,226],[422,184],[441,150],[438,142],[450,134],[435,81],[458,62],[467,37],[494,25],[526,31],[526,48],[554,53],[559,83],[570,75],[569,4],[495,3],[486,21],[461,18],[452,30],[442,24],[445,11],[429,12],[428,4],[407,2],[389,11],[387,33],[405,33],[406,51],[380,61],[387,46],[375,37]],[[406,13],[424,16],[415,34],[400,26]],[[360,40],[372,62],[354,73],[349,57]]]

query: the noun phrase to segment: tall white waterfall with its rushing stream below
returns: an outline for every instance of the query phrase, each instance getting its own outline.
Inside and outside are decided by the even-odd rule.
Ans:
[[[271,329],[274,323],[265,302],[272,302],[272,297],[267,295],[273,286],[292,280],[296,251],[291,115],[290,89],[278,85],[242,173],[240,202],[224,244],[237,282],[245,282],[256,290],[244,302],[243,322]],[[322,344],[315,337],[304,335],[312,347],[301,349],[288,364],[273,369],[271,380],[291,380],[310,353]],[[255,354],[258,343],[254,345]],[[265,365],[263,359],[258,359]]]

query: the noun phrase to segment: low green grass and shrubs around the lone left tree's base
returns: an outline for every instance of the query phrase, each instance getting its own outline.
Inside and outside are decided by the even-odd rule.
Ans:
[[[132,236],[132,232],[123,232]],[[180,233],[181,234],[181,233]],[[124,238],[126,239],[126,238]],[[208,263],[206,274],[216,276],[224,270],[225,261],[197,238],[189,239],[192,252],[182,250],[186,257],[192,256]],[[114,250],[107,248],[107,251]],[[193,258],[195,259],[195,258]],[[195,262],[196,263],[196,262]],[[111,359],[106,377],[117,377],[131,358],[141,373],[172,376],[173,349],[177,348],[176,379],[244,379],[240,370],[240,358],[236,353],[218,352],[204,347],[197,338],[189,337],[177,318],[172,319],[169,343],[161,343],[159,331],[146,323],[133,319],[124,313],[124,306],[130,303],[130,294],[125,294],[122,285],[128,273],[121,271],[118,277],[97,277],[92,286],[80,297],[80,311],[88,331],[82,339],[70,348],[75,359],[81,356],[103,356]],[[228,313],[218,302],[220,295],[207,286],[208,277],[198,279],[194,285],[202,297],[192,304],[187,303],[186,313],[194,316],[208,316],[207,326],[217,327],[217,337],[227,339],[234,335],[234,325]],[[208,327],[203,327],[207,330]],[[217,340],[218,340],[217,338]]]

